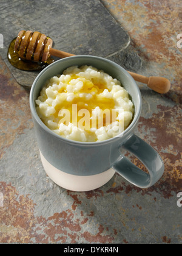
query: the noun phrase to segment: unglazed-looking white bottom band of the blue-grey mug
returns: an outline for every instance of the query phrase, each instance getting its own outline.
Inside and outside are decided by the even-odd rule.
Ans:
[[[40,155],[44,170],[50,179],[59,185],[59,187],[66,188],[67,190],[78,192],[95,190],[96,188],[102,187],[104,184],[109,182],[109,180],[112,179],[113,175],[115,174],[115,170],[112,168],[99,174],[90,176],[68,174],[51,165],[42,155],[41,151]]]

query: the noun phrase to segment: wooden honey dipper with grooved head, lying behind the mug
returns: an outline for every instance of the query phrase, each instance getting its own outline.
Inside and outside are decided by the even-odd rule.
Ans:
[[[15,51],[18,52],[21,59],[32,60],[33,62],[46,62],[50,55],[59,58],[74,56],[68,52],[60,51],[52,48],[52,39],[40,32],[32,32],[30,30],[21,30],[15,41]],[[149,88],[157,93],[167,93],[170,89],[170,81],[164,77],[142,76],[127,71],[133,79],[143,84],[147,84]]]

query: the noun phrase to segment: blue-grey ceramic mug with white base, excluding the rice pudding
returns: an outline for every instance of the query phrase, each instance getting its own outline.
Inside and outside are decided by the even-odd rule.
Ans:
[[[38,98],[45,81],[62,74],[73,65],[91,65],[120,80],[129,92],[135,113],[129,127],[121,136],[96,142],[67,140],[50,130],[36,112]],[[118,172],[130,183],[140,188],[151,187],[164,172],[160,155],[135,135],[134,130],[141,113],[141,93],[135,80],[120,65],[92,55],[78,55],[58,60],[39,73],[30,91],[30,109],[36,138],[45,172],[56,184],[73,191],[89,191],[101,187]],[[123,149],[132,152],[144,163],[148,172],[130,162]]]

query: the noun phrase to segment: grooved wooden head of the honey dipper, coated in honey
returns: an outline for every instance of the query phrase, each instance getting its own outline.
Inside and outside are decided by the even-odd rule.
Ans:
[[[46,62],[50,56],[52,39],[38,31],[21,30],[15,41],[15,51],[21,59]]]

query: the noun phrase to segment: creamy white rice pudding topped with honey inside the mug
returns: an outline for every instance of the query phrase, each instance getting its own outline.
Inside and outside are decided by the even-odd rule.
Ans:
[[[103,141],[129,126],[134,107],[120,81],[92,66],[71,66],[52,77],[36,99],[44,124],[61,137]]]

